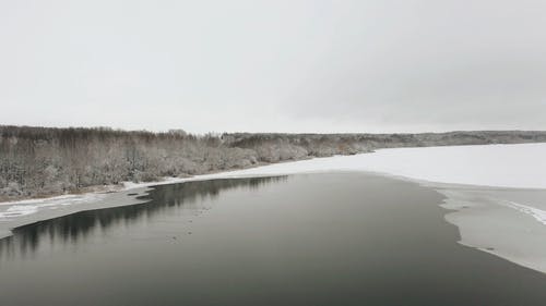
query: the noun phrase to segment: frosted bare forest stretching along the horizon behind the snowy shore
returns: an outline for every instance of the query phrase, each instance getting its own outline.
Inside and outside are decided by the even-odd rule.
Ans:
[[[0,125],[0,200],[81,193],[379,148],[546,142],[546,132],[192,135]]]

